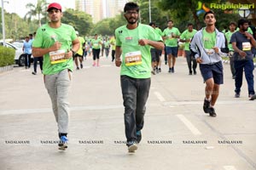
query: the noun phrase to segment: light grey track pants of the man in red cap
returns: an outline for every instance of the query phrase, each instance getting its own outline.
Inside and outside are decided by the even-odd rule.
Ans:
[[[44,85],[51,99],[59,133],[68,133],[68,92],[71,86],[71,77],[72,72],[67,69],[54,75],[45,75],[44,77]]]

